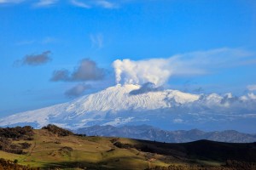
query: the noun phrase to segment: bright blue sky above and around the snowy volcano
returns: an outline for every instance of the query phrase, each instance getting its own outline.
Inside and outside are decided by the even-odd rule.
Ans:
[[[77,86],[78,94],[113,86],[116,59],[137,63],[179,54],[161,86],[241,95],[256,84],[256,3],[0,0],[0,52],[0,116],[68,101]],[[104,76],[73,76],[83,61]],[[51,81],[63,69],[70,77]]]

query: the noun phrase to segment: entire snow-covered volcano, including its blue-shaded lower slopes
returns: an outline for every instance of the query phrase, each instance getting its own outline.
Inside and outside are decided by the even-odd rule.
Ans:
[[[234,115],[234,109],[230,105],[236,103],[235,99],[238,103],[250,100],[249,96],[234,98],[231,94],[224,96],[218,94],[198,95],[171,89],[150,89],[143,91],[143,87],[139,85],[118,84],[64,104],[8,116],[0,120],[0,126],[32,125],[33,127],[42,127],[49,123],[68,128],[96,124],[148,123],[159,127],[181,123],[189,125],[190,122],[199,120],[202,122],[214,121],[216,117],[212,114],[218,112],[219,115],[221,114],[219,111]],[[244,102],[243,105],[250,110],[249,107],[252,104]],[[243,107],[237,107],[244,111]],[[255,108],[253,107],[253,109]]]

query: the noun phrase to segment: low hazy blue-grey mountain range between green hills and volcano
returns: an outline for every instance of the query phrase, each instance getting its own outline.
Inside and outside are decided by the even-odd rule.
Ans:
[[[148,125],[113,127],[92,126],[79,128],[75,133],[83,133],[89,136],[124,137],[131,139],[155,140],[168,143],[183,143],[195,140],[207,139],[219,142],[250,143],[256,141],[256,134],[239,133],[234,130],[203,132],[198,129],[189,131],[165,131]]]

